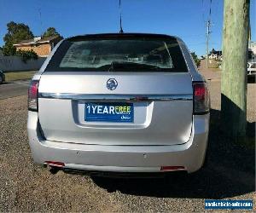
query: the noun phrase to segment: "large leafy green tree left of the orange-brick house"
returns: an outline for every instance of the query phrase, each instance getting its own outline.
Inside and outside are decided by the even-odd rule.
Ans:
[[[10,21],[7,24],[7,31],[3,37],[3,55],[15,55],[16,49],[13,44],[33,37],[29,26],[22,23],[15,23],[14,21]]]

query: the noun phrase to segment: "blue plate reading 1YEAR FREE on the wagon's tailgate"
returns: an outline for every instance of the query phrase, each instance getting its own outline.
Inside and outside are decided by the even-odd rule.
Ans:
[[[84,120],[88,122],[133,122],[132,103],[85,103]]]

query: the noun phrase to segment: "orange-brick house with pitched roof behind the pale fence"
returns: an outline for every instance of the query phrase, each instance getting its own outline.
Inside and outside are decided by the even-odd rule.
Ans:
[[[34,37],[29,40],[21,41],[20,43],[15,43],[15,48],[21,50],[34,50],[39,57],[47,57],[50,51],[55,47],[55,45],[61,41],[62,37],[52,36],[52,37]]]

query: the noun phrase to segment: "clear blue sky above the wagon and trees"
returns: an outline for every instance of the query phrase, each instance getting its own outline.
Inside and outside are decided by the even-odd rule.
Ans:
[[[239,1],[239,0],[234,0]],[[190,51],[206,53],[206,21],[212,27],[209,49],[221,49],[224,0],[121,0],[124,32],[181,37]],[[49,26],[63,37],[119,32],[119,0],[0,0],[0,46],[9,21],[24,23],[35,36]],[[252,40],[256,41],[256,0],[251,0]]]

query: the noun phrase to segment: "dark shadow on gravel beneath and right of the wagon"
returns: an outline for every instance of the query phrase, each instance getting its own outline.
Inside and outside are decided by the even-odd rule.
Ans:
[[[158,198],[224,199],[255,190],[255,153],[253,147],[241,147],[219,133],[220,112],[211,110],[207,164],[199,171],[168,178],[128,179],[92,177],[108,192]],[[249,137],[255,138],[255,123],[248,123]]]

